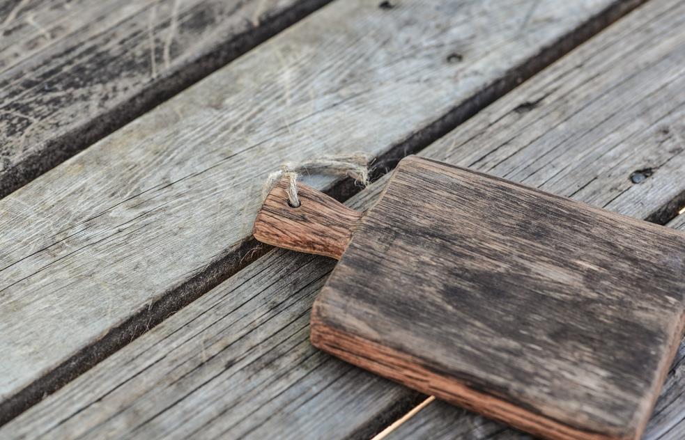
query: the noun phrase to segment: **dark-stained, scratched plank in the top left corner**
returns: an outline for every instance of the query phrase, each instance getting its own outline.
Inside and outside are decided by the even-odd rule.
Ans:
[[[325,3],[3,2],[0,197]]]

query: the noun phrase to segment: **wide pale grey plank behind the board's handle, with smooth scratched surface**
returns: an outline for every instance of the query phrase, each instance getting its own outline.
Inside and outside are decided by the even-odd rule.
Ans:
[[[422,146],[637,3],[333,3],[4,198],[0,414],[249,261],[285,159]]]

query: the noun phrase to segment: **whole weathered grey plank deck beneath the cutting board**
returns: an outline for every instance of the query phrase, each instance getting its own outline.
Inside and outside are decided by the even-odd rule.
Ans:
[[[425,400],[309,345],[334,262],[250,237],[285,160],[415,152],[685,230],[685,2],[324,3],[0,3],[0,438],[369,438]],[[685,437],[684,357],[646,439]],[[437,401],[387,436],[512,437]]]

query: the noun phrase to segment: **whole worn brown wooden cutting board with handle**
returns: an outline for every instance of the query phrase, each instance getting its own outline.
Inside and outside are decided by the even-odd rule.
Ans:
[[[638,439],[684,327],[685,234],[418,157],[362,214],[287,182],[254,236],[340,261],[311,343],[550,439]]]

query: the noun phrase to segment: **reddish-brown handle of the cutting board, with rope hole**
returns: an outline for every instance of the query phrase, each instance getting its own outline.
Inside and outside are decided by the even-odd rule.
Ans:
[[[288,179],[271,189],[254,221],[260,242],[339,260],[362,213],[304,184],[298,184],[300,206],[288,204]]]

